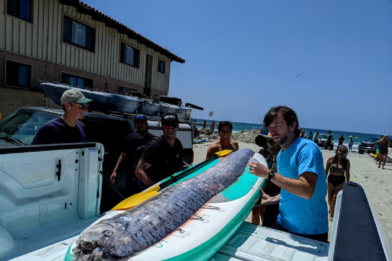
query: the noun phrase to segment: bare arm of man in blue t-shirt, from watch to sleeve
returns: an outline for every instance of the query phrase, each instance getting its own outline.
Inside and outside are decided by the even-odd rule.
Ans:
[[[278,187],[301,198],[310,199],[316,188],[318,175],[313,172],[304,172],[299,175],[299,179],[287,178],[279,173],[275,173],[271,179]]]

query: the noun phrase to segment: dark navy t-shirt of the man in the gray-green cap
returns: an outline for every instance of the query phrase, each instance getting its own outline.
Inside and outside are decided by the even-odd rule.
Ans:
[[[86,126],[80,121],[71,127],[61,117],[54,118],[38,129],[31,145],[85,142],[85,129]]]

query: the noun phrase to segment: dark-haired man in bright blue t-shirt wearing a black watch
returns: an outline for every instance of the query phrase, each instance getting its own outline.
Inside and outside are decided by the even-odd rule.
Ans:
[[[272,107],[264,125],[282,148],[276,158],[278,172],[252,162],[250,173],[270,179],[281,192],[270,197],[261,190],[261,205],[279,203],[278,229],[327,242],[327,182],[321,150],[316,143],[299,137],[298,118],[289,107]]]

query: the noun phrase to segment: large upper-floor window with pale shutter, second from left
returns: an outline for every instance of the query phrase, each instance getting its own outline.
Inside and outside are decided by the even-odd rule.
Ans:
[[[95,29],[64,16],[63,41],[94,52]]]

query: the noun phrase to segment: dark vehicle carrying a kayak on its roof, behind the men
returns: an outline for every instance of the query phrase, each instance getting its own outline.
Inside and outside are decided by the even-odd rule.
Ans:
[[[0,121],[0,147],[30,145],[38,129],[56,117],[64,114],[62,109],[45,107],[22,107]],[[122,153],[123,144],[128,134],[135,132],[132,119],[95,112],[86,112],[81,120],[86,125],[86,142],[99,142],[103,144],[105,155],[103,157],[103,180],[100,212],[110,210],[116,203],[122,201],[109,184],[109,177],[113,173],[117,160]],[[162,134],[158,122],[149,120],[149,132],[155,136]],[[189,124],[180,123],[176,137],[183,145],[184,160],[193,162],[192,128]],[[114,187],[125,192],[126,169],[119,169]],[[127,194],[127,193],[122,193]]]

